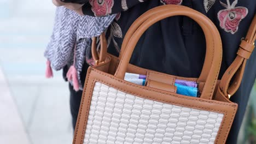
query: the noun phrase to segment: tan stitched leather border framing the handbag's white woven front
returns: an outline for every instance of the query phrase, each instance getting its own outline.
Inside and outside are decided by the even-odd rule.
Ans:
[[[104,85],[116,88],[119,91],[136,95],[137,97],[161,101],[162,103],[191,107],[199,110],[223,113],[223,122],[220,125],[220,129],[215,142],[218,144],[225,143],[226,137],[228,136],[228,132],[230,130],[232,121],[234,120],[234,116],[237,110],[237,104],[235,103],[224,103],[216,100],[186,97],[179,94],[160,91],[155,88],[139,86],[121,79],[117,79],[113,75],[103,73],[100,70],[90,67],[88,69],[88,74],[85,81],[85,89],[83,92],[83,97],[79,110],[77,128],[75,129],[75,135],[73,140],[74,144],[83,143],[91,95],[95,81],[104,83]]]

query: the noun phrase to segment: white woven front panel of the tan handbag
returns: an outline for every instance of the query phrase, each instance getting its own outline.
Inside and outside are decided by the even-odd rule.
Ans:
[[[214,143],[222,119],[222,113],[144,99],[96,82],[84,143]]]

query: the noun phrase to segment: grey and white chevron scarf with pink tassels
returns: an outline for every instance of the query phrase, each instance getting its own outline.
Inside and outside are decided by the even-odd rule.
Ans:
[[[68,65],[69,82],[72,83],[75,91],[83,89],[80,73],[84,60],[91,55],[91,38],[99,36],[114,18],[115,15],[80,16],[73,10],[57,7],[53,34],[44,52],[44,56],[48,59],[46,77],[53,77],[51,68],[60,70]]]

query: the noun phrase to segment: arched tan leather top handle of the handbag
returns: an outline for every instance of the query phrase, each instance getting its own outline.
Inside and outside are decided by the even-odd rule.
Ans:
[[[161,9],[165,7],[169,10],[161,11]],[[197,23],[199,23],[199,25],[203,29],[203,32],[205,33],[207,49],[205,64],[203,65],[202,71],[208,71],[208,73],[201,73],[201,75],[203,76],[200,75],[201,77],[206,77],[206,83],[205,87],[203,88],[201,98],[212,99],[222,60],[222,44],[216,26],[205,15],[202,15],[201,13],[193,9],[181,5],[163,5],[154,9],[156,11],[159,10],[159,12],[156,12],[154,15],[150,16],[146,21],[144,21],[142,25],[137,28],[135,33],[132,34],[130,39],[128,39],[127,37],[124,38],[124,41],[128,41],[128,43],[126,47],[122,45],[121,49],[124,49],[124,55],[120,59],[120,63],[118,65],[115,76],[119,79],[124,79],[127,65],[130,61],[132,52],[137,44],[137,41],[150,26],[152,26],[155,22],[165,19],[166,17],[184,15],[190,17],[191,19],[194,19]],[[147,15],[148,13],[151,12],[147,11],[145,14]],[[137,24],[135,23],[134,25]],[[133,31],[133,29],[131,31]],[[131,33],[130,29],[127,33]],[[208,68],[208,70],[206,70],[206,68]],[[204,80],[202,79],[202,81]]]

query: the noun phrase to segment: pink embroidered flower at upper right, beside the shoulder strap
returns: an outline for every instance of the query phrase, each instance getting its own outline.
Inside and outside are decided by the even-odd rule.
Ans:
[[[227,0],[228,5],[220,2],[226,9],[218,12],[219,25],[224,31],[234,34],[238,30],[238,25],[242,19],[248,14],[248,9],[245,7],[235,7],[237,0],[231,5]]]

